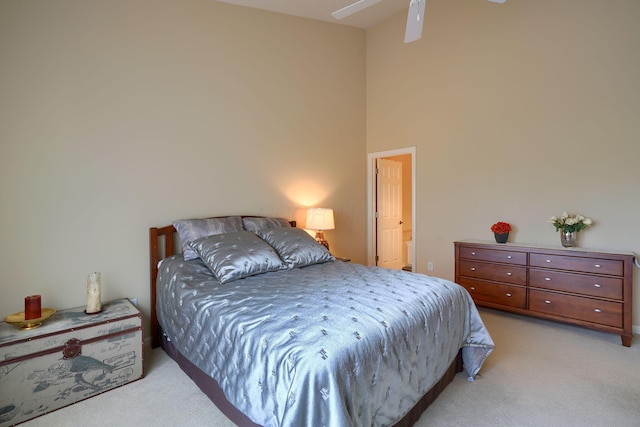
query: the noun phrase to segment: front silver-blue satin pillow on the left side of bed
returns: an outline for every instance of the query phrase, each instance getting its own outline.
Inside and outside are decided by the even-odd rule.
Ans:
[[[250,231],[214,234],[189,246],[220,283],[285,268],[273,248]]]

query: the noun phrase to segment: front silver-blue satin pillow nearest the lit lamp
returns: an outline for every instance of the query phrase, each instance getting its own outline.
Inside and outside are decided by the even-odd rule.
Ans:
[[[335,260],[327,248],[302,228],[268,228],[257,234],[276,250],[288,268]]]

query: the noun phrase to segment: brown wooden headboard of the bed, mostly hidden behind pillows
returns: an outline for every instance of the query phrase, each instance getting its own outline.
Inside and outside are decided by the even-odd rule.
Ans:
[[[243,215],[242,218],[258,217],[257,215]],[[221,217],[211,217],[221,218]],[[292,227],[295,221],[289,221]],[[158,263],[161,259],[181,253],[182,248],[177,246],[178,233],[173,225],[164,227],[151,227],[149,229],[149,271],[150,271],[150,295],[151,295],[151,347],[160,345],[161,329],[156,312],[156,280],[158,279]]]

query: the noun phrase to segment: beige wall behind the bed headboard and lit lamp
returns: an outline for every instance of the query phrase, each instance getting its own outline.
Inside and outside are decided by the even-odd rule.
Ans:
[[[212,0],[0,2],[0,313],[148,313],[148,228],[332,207],[365,260],[365,34]]]

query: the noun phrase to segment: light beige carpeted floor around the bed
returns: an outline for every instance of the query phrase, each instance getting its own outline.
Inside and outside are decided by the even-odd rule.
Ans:
[[[495,343],[480,377],[460,373],[418,427],[640,426],[640,338],[481,309]],[[233,426],[160,349],[146,377],[23,424]]]

